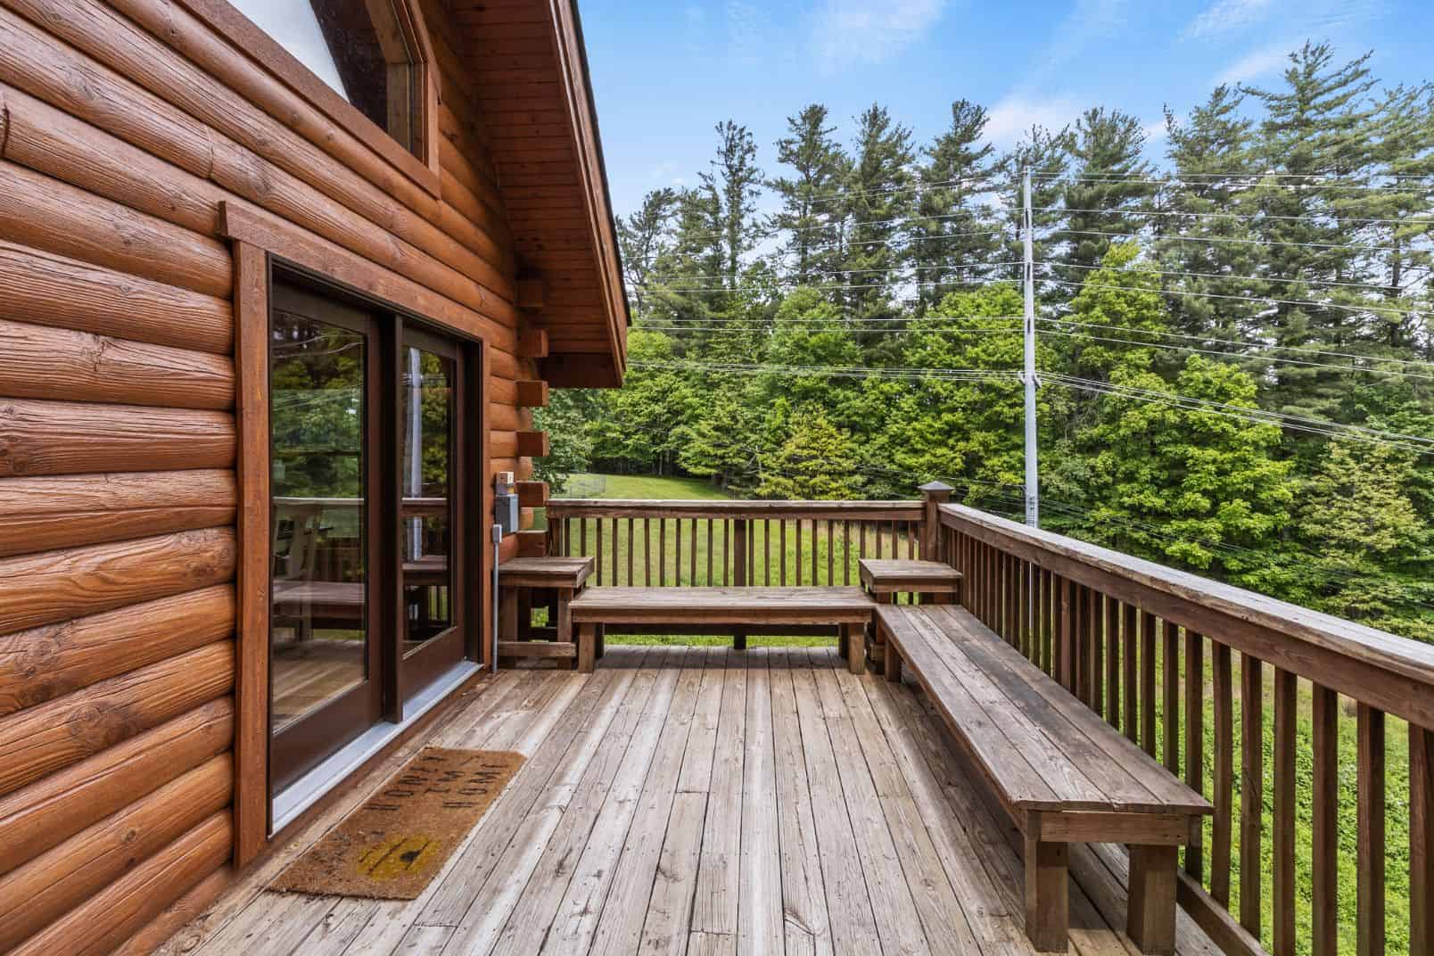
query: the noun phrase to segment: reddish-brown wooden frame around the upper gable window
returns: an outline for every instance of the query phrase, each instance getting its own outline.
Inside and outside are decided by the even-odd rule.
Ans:
[[[419,86],[417,100],[422,113],[413,125],[414,136],[420,140],[417,152],[410,152],[390,136],[389,130],[364,116],[357,106],[318,79],[228,0],[178,1],[317,112],[353,135],[424,192],[439,198],[439,70],[419,0],[391,0],[399,26],[409,42],[409,49],[413,50],[413,77]]]

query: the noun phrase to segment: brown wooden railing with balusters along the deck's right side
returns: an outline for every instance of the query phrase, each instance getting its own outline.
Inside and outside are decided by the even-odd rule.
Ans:
[[[1180,900],[1225,952],[1434,953],[1434,648],[969,507],[939,523],[962,603],[1213,803]]]

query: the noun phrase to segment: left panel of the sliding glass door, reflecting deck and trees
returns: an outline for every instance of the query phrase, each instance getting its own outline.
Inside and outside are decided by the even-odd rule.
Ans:
[[[367,474],[370,317],[275,285],[271,732],[281,787],[379,720]]]

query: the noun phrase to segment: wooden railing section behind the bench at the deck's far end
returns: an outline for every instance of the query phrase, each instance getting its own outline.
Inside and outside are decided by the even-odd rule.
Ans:
[[[548,503],[548,553],[592,556],[589,585],[859,585],[862,558],[916,558],[921,502]]]

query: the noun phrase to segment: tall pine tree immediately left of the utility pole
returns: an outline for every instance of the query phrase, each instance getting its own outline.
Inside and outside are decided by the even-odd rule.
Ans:
[[[995,148],[981,139],[987,122],[984,106],[964,99],[952,103],[951,128],[925,149],[926,163],[918,171],[908,239],[919,300],[926,305],[939,302],[952,288],[994,278],[979,268],[997,261],[1001,245],[991,211],[978,205],[992,191],[997,173]]]

